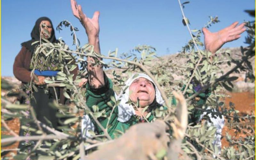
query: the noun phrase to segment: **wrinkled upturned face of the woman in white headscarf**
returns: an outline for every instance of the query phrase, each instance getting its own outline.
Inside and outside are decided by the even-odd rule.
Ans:
[[[130,99],[136,103],[137,98],[140,100],[140,107],[146,107],[150,105],[156,96],[156,91],[152,82],[146,78],[135,79],[129,87]]]

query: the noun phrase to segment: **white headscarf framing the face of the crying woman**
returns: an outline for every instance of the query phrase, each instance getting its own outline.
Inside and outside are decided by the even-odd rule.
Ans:
[[[156,84],[153,82],[153,80],[146,74],[143,73],[135,73],[133,74],[126,82],[125,82],[125,87],[123,88],[123,90],[120,92],[120,94],[116,97],[117,100],[121,100],[120,104],[118,105],[118,118],[117,120],[119,122],[126,122],[128,121],[132,115],[135,115],[135,110],[132,107],[131,104],[126,104],[126,102],[129,100],[129,87],[132,84],[132,82],[135,79],[138,78],[146,78],[149,81],[151,81],[155,86]],[[163,104],[164,100],[161,96],[160,91],[158,90],[157,87],[155,87],[156,89],[156,102],[159,104]]]

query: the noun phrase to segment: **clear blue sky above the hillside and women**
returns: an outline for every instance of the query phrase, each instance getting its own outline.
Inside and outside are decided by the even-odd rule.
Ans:
[[[181,0],[181,3],[185,1]],[[156,48],[157,55],[176,53],[190,39],[188,30],[182,24],[178,0],[77,0],[88,17],[100,11],[101,53],[118,48],[119,54],[128,52],[138,44],[148,44]],[[234,21],[255,20],[244,10],[255,9],[254,0],[194,0],[184,8],[191,29],[201,29],[210,20],[208,16],[218,16],[220,23],[210,31],[227,27]],[[62,20],[70,21],[80,29],[76,34],[81,45],[87,43],[84,28],[73,16],[69,0],[2,0],[1,1],[1,76],[13,76],[12,65],[21,49],[20,44],[30,40],[30,32],[35,21],[42,16],[49,17],[56,37],[72,46],[69,28],[59,33],[56,26]],[[239,40],[223,47],[245,46],[242,34]]]

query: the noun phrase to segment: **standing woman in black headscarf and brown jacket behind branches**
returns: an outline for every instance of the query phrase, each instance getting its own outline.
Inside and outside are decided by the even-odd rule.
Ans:
[[[35,26],[31,32],[31,40],[23,42],[21,44],[22,48],[19,54],[16,56],[13,64],[13,74],[14,76],[22,82],[22,84],[30,83],[31,79],[36,84],[37,92],[33,91],[33,97],[30,100],[30,105],[34,108],[36,112],[37,120],[41,121],[43,124],[51,126],[57,129],[58,119],[56,117],[57,110],[50,107],[49,103],[53,102],[57,97],[60,104],[65,103],[65,97],[63,96],[63,88],[55,87],[56,94],[52,87],[49,88],[48,93],[44,92],[44,79],[45,77],[56,76],[59,70],[49,69],[47,71],[35,70],[35,76],[33,78],[31,74],[31,58],[36,50],[36,45],[33,42],[40,41],[44,43],[44,39],[47,39],[51,43],[59,43],[56,40],[52,21],[47,17],[41,17],[36,20]],[[32,45],[33,44],[33,45]],[[78,68],[74,69],[72,73],[74,77],[77,75]],[[37,78],[36,78],[37,77]],[[24,100],[23,102],[24,103]],[[26,102],[29,103],[29,102]],[[21,123],[22,124],[22,123]],[[34,125],[33,125],[34,126]],[[23,133],[21,133],[23,132]],[[21,130],[21,134],[24,135],[24,131]],[[31,133],[34,134],[34,133]],[[31,135],[30,134],[30,135]]]

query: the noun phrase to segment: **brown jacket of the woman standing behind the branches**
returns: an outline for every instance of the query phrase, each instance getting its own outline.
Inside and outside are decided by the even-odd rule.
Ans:
[[[22,82],[22,84],[29,83],[31,81],[30,77],[30,61],[32,58],[31,52],[24,46],[22,46],[20,52],[15,57],[14,64],[13,64],[13,74],[14,76]],[[78,66],[72,72],[74,74],[73,79],[76,79],[78,73]],[[65,103],[65,97],[63,95],[63,87],[60,88],[60,103]]]

